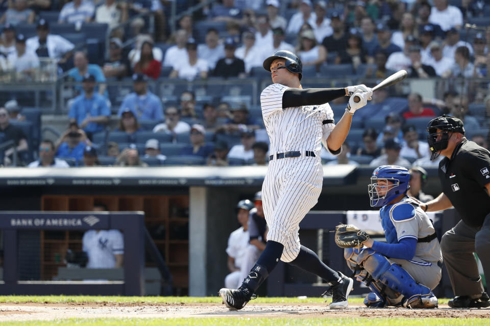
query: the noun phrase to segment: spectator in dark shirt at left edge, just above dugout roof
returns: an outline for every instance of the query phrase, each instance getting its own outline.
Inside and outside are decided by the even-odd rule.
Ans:
[[[10,123],[9,113],[5,107],[0,107],[0,144],[13,140],[17,150],[17,162],[22,162],[27,158],[29,145],[27,137],[17,126]],[[10,147],[4,152],[5,165],[10,165],[13,159],[14,147]]]

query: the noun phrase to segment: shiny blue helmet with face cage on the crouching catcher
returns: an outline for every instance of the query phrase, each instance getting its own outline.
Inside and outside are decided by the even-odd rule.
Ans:
[[[378,180],[386,180],[393,184],[380,187]],[[410,173],[404,167],[382,165],[376,168],[371,176],[371,183],[367,186],[371,207],[384,206],[400,194],[405,194],[410,187],[409,180]]]

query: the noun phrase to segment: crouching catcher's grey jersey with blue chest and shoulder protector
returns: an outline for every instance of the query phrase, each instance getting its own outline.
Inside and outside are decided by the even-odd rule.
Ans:
[[[416,240],[435,232],[427,214],[408,197],[396,204],[383,206],[379,214],[388,243],[398,243],[405,238]],[[439,241],[434,239],[430,242],[418,242],[415,256],[425,261],[442,261]]]

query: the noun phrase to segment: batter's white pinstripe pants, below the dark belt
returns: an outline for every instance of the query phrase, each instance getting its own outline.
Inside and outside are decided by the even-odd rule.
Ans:
[[[267,240],[284,245],[281,260],[290,262],[300,252],[299,224],[322,192],[320,155],[282,158],[269,162],[262,184],[262,205],[269,231]]]

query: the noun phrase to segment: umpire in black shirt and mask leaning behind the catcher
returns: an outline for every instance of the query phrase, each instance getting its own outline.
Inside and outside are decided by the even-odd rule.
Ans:
[[[454,206],[461,216],[455,227],[440,242],[455,297],[452,308],[485,308],[488,295],[478,272],[473,253],[490,281],[490,152],[464,137],[461,120],[440,116],[428,126],[431,159],[446,156],[439,162],[439,180],[443,193],[420,203],[424,211],[438,211]],[[488,283],[487,283],[488,284]],[[488,286],[487,286],[488,287]]]

